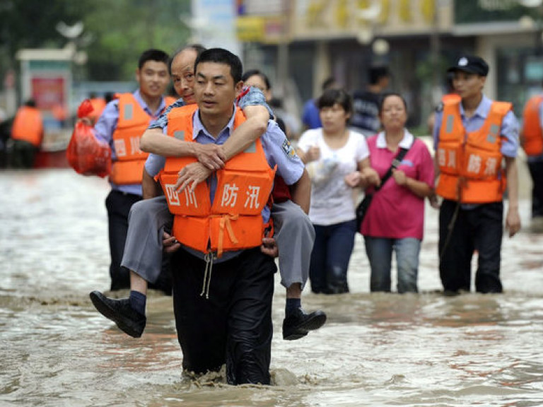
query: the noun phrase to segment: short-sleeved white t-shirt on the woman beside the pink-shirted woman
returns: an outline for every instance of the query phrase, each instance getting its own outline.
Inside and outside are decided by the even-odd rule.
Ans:
[[[335,161],[337,165],[324,182],[312,182],[309,209],[311,222],[326,226],[354,220],[356,215],[352,188],[345,183],[344,177],[358,170],[358,163],[369,157],[366,138],[351,130],[345,146],[332,150],[325,143],[322,129],[311,129],[302,134],[298,148],[305,153],[312,146],[320,148],[319,161]]]

